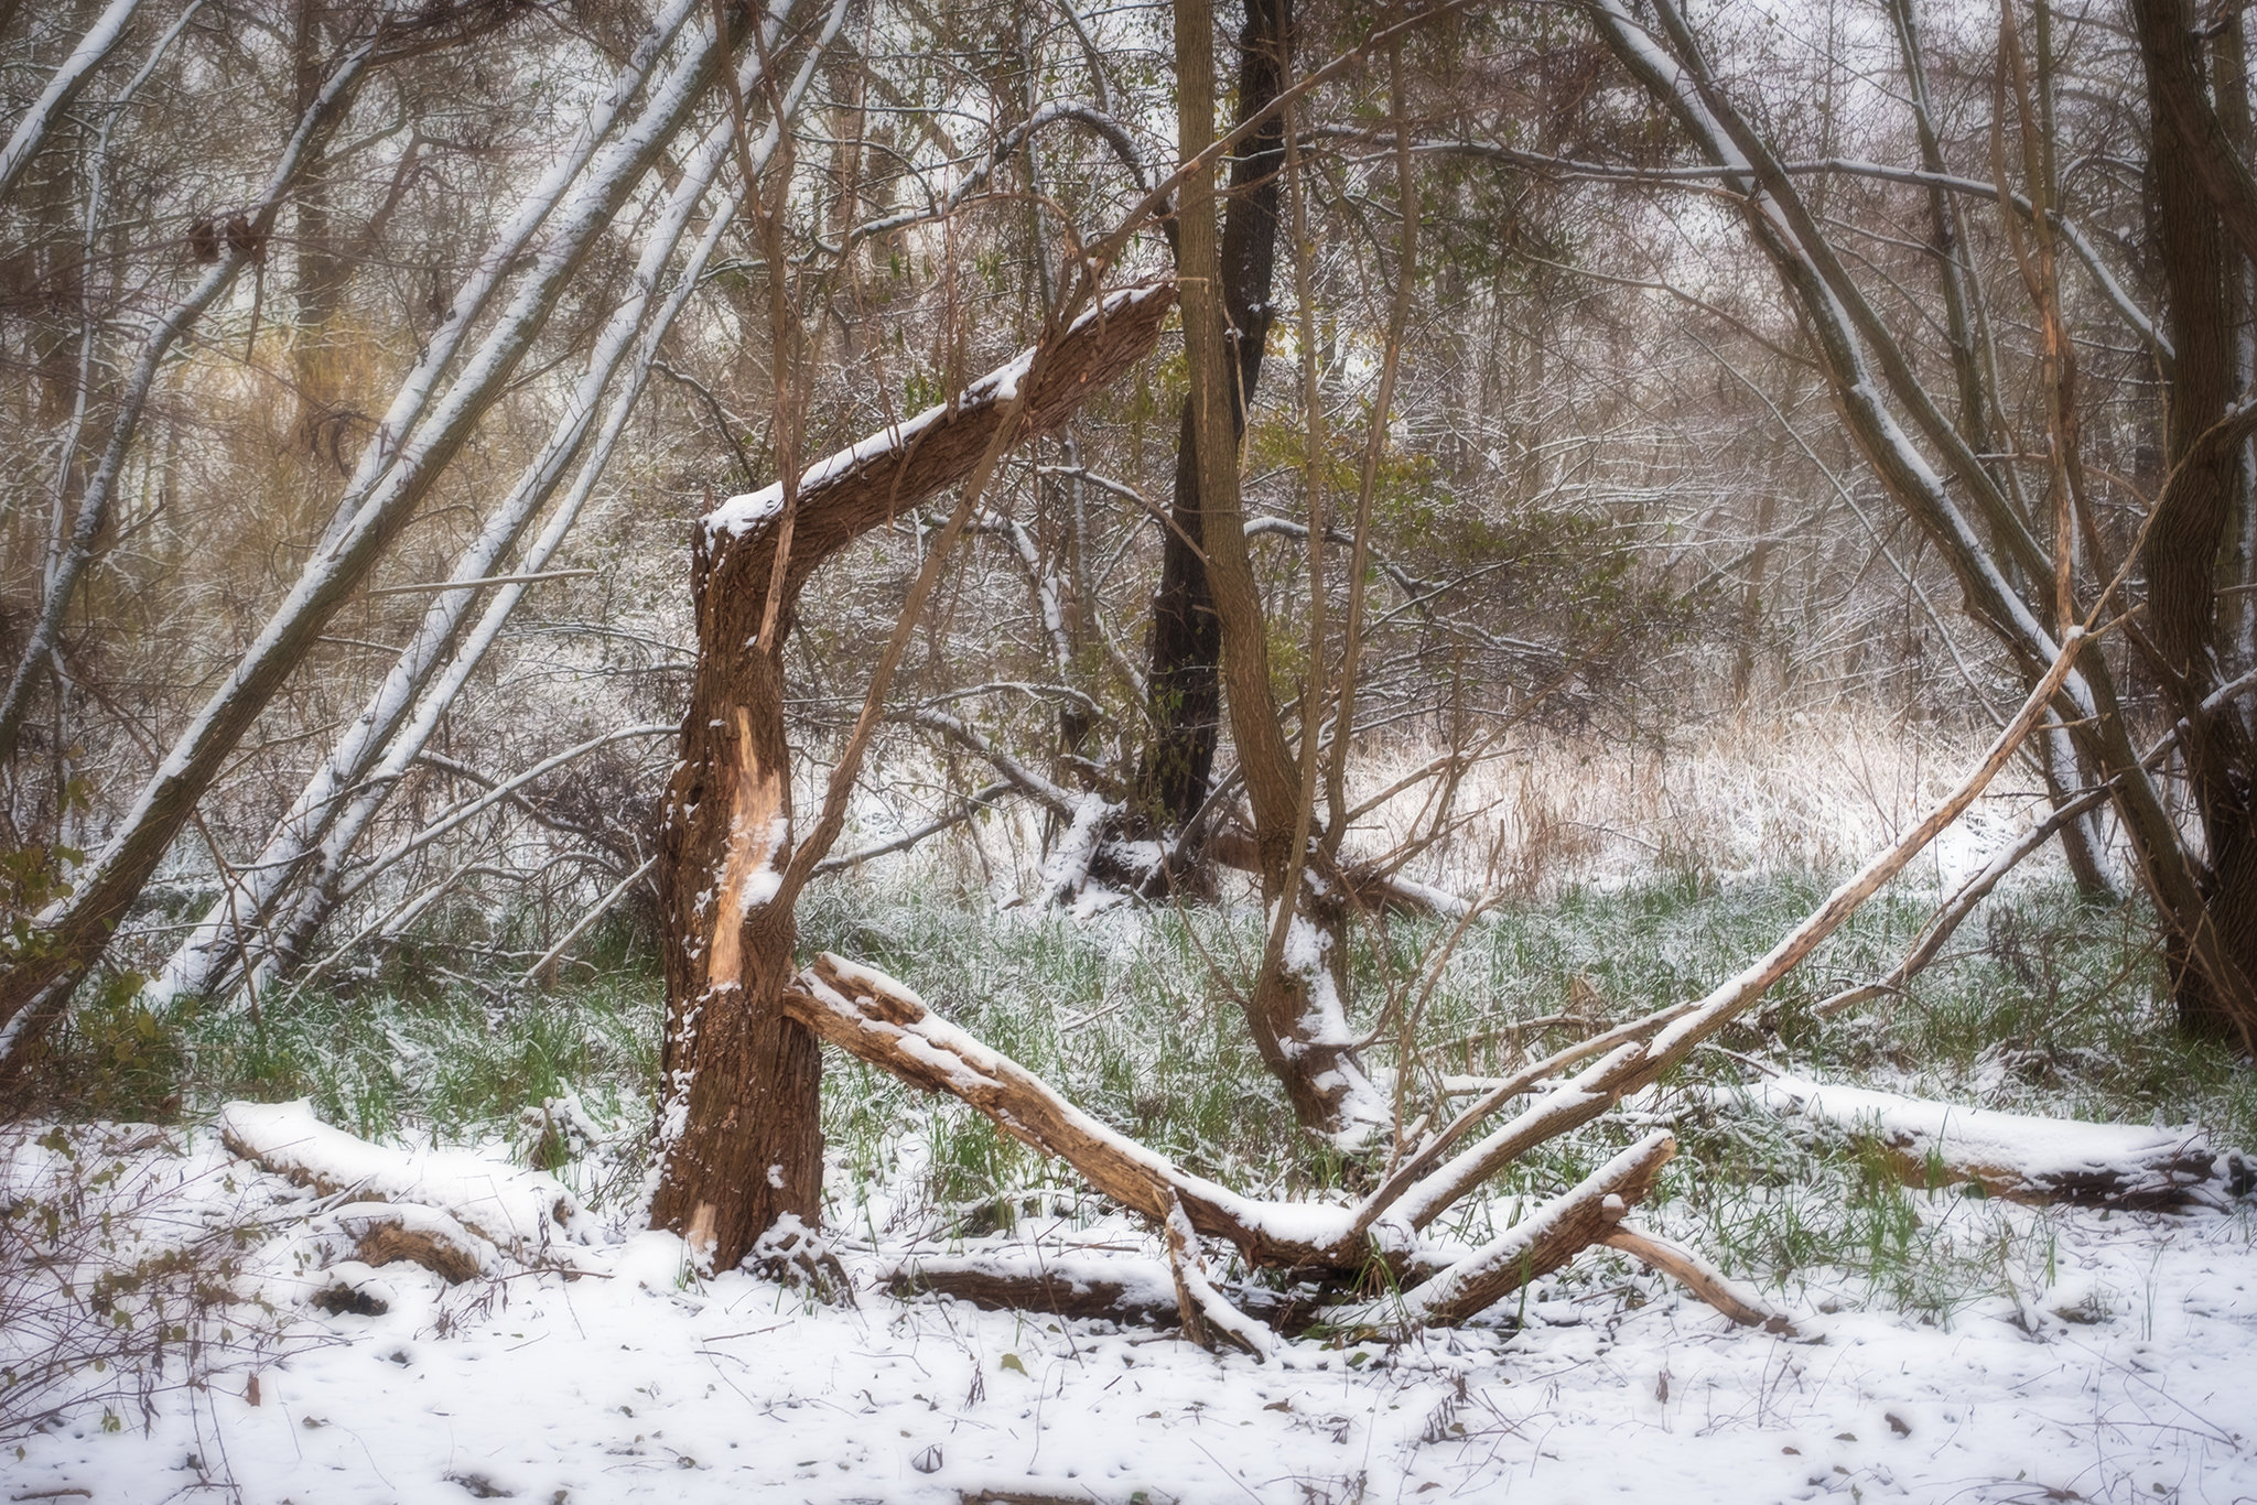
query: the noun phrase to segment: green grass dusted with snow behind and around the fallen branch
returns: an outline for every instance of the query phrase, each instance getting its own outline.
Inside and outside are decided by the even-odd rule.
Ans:
[[[1819,875],[1715,882],[1666,875],[1616,891],[1496,912],[1442,961],[1451,925],[1365,927],[1352,954],[1356,1018],[1420,997],[1408,1054],[1384,1038],[1368,1060],[1408,1065],[1413,1112],[1442,1074],[1517,1058],[1501,1027],[1546,1015],[1623,1020],[1706,993],[1763,952],[1826,891]],[[1740,1056],[1826,1081],[1950,1101],[2146,1121],[2201,1121],[2257,1146],[2257,1076],[2171,1027],[2162,966],[2140,905],[2094,907],[2061,887],[1995,896],[1907,997],[1817,1020],[1812,1002],[1885,972],[1927,918],[1923,896],[1869,905],[1765,1006],[1697,1054],[1641,1110],[1677,1124],[1666,1227],[1729,1273],[1785,1291],[1950,1320],[1973,1300],[2029,1288],[2043,1218],[1957,1194],[1903,1189],[1846,1135],[1718,1106],[1749,1076]],[[1255,916],[1228,907],[1063,914],[993,912],[932,887],[849,880],[801,907],[806,950],[885,968],[934,1009],[1050,1079],[1072,1101],[1187,1169],[1264,1196],[1368,1185],[1379,1160],[1343,1162],[1293,1128],[1246,1038],[1237,991],[1259,950]],[[582,1139],[542,1133],[539,1108],[582,1101],[636,1162],[657,1083],[661,984],[616,950],[596,975],[492,1006],[431,986],[395,957],[348,995],[307,993],[248,1013],[147,1015],[113,991],[74,1018],[63,1081],[88,1117],[196,1117],[228,1097],[309,1097],[354,1133],[508,1137],[555,1162]],[[1557,1045],[1573,1029],[1537,1033]],[[528,1110],[533,1117],[528,1119]],[[982,1115],[831,1058],[824,1090],[835,1221],[880,1236],[975,1236],[1074,1182]],[[1639,1133],[1623,1115],[1542,1146],[1496,1178],[1492,1200],[1438,1232],[1487,1236]],[[585,1178],[582,1178],[585,1180]],[[632,1178],[612,1178],[627,1187]],[[625,1191],[623,1191],[625,1194]],[[876,1227],[882,1205],[894,1227]],[[1086,1198],[1088,1209],[1104,1203]],[[1659,1214],[1657,1214],[1659,1216]],[[1609,1261],[1578,1266],[1607,1279]],[[2043,1284],[2043,1282],[2038,1282]]]

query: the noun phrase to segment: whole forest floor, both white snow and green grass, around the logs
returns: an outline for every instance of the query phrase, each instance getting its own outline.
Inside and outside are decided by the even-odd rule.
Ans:
[[[1508,907],[1460,943],[1397,1065],[1424,1090],[1510,1058],[1483,1038],[1503,1022],[1627,1018],[1702,991],[1821,887],[1679,873]],[[1670,1124],[1684,1151],[1641,1218],[1765,1288],[1792,1338],[1731,1329],[1607,1250],[1472,1327],[1305,1338],[1277,1365],[1144,1327],[898,1300],[882,1277],[916,1252],[1158,1246],[977,1115],[853,1063],[826,1081],[828,1225],[858,1284],[858,1304],[833,1306],[745,1273],[700,1279],[677,1241],[636,1230],[657,984],[634,957],[501,1004],[429,984],[447,963],[431,941],[350,997],[260,1020],[97,1006],[70,1060],[104,1119],[0,1144],[11,1246],[72,1252],[0,1273],[0,1480],[18,1500],[298,1505],[2257,1494],[2246,1203],[2158,1216],[1909,1191],[1855,1139],[1718,1092],[1763,1060],[2257,1146],[2248,1072],[2167,1029],[2140,907],[2081,905],[2054,878],[1995,898],[1909,997],[1812,1020],[1812,1000],[1887,970],[1927,914],[1923,887],[1862,914],[1729,1049],[1438,1230],[1481,1236]],[[1370,1176],[1289,1130],[1214,982],[1250,961],[1246,914],[998,914],[939,894],[835,887],[808,905],[806,941],[894,970],[1201,1173],[1314,1198]],[[1390,925],[1356,959],[1359,997],[1417,979],[1442,934]],[[497,1173],[553,1167],[600,1230],[564,1246],[569,1268],[445,1286],[395,1264],[354,1277],[377,1297],[359,1304],[386,1311],[311,1306],[339,1286],[314,1194],[212,1128],[223,1099],[291,1097],[370,1139],[469,1146]],[[81,1363],[34,1379],[27,1318]]]

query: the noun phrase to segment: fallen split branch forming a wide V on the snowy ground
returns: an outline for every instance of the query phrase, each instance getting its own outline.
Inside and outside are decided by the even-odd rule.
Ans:
[[[1837,887],[1765,957],[1702,1000],[1661,1009],[1605,1031],[1501,1083],[1447,1128],[1417,1144],[1361,1205],[1264,1203],[1192,1176],[1165,1155],[1081,1112],[1016,1060],[937,1018],[910,988],[851,961],[831,954],[817,957],[783,991],[781,1011],[862,1060],[930,1092],[957,1097],[1022,1144],[1065,1160],[1106,1196],[1165,1230],[1174,1227],[1171,1248],[1185,1248],[1187,1234],[1228,1239],[1250,1266],[1289,1268],[1338,1284],[1354,1284],[1372,1266],[1386,1266],[1408,1286],[1406,1293],[1386,1304],[1363,1302],[1343,1309],[1347,1320],[1368,1324],[1463,1320],[1533,1275],[1557,1268],[1580,1248],[1614,1239],[1623,1212],[1652,1187],[1654,1173],[1675,1153],[1675,1139],[1650,1135],[1483,1250],[1447,1250],[1422,1243],[1420,1234],[1496,1171],[1537,1144],[1600,1117],[1625,1092],[1652,1085],[1663,1072],[1690,1056],[1702,1040],[1754,1009],[1772,984],[1817,950],[1941,830],[1966,815],[1968,806],[2016,756],[2022,740],[2045,720],[2047,704],[2072,672],[2079,652],[2090,643],[2081,630],[2070,630],[2065,639],[2067,645],[2052,668],[1959,787],[1905,837]],[[1573,1079],[1555,1079],[1557,1072],[1591,1056],[1598,1060]],[[1451,1153],[1483,1119],[1530,1094],[1533,1099],[1519,1115]],[[1621,1243],[1621,1239],[1616,1241]],[[1688,1259],[1672,1264],[1666,1257],[1670,1250],[1652,1239],[1645,1243],[1652,1243],[1659,1257],[1643,1252],[1643,1248],[1632,1252],[1657,1268],[1672,1273],[1679,1266],[1697,1268],[1697,1261]],[[1217,1315],[1223,1322],[1230,1320],[1228,1304],[1219,1313],[1205,1300],[1207,1291],[1180,1279],[1185,1270],[1180,1255],[1176,1270],[1185,1322],[1194,1331],[1198,1322],[1214,1322]],[[1706,1286],[1718,1282],[1688,1279],[1688,1284],[1709,1300]],[[1745,1297],[1738,1297],[1745,1311],[1718,1304],[1733,1320],[1745,1320],[1745,1313],[1756,1311]],[[1767,1322],[1769,1313],[1763,1318]]]

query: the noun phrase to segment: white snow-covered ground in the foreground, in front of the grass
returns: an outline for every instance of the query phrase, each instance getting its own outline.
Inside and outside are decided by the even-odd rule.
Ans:
[[[1142,1327],[901,1302],[878,1288],[889,1261],[851,1248],[855,1306],[740,1273],[695,1279],[668,1234],[598,1232],[551,1250],[569,1270],[506,1266],[460,1286],[409,1264],[323,1270],[339,1252],[323,1209],[339,1198],[235,1160],[217,1133],[135,1133],[74,1130],[70,1162],[56,1135],[16,1139],[11,1196],[122,1162],[99,1189],[120,1207],[113,1255],[135,1255],[142,1234],[151,1252],[183,1230],[253,1230],[232,1288],[271,1302],[291,1336],[201,1390],[160,1390],[147,1422],[140,1406],[115,1403],[106,1422],[93,1403],[25,1435],[0,1455],[11,1500],[2257,1494],[2246,1207],[1991,1203],[1986,1216],[2040,1246],[2052,1234],[2049,1284],[2025,1279],[2016,1300],[1948,1324],[1828,1313],[1833,1300],[1806,1293],[1790,1302],[1799,1336],[1781,1338],[1731,1329],[1623,1266],[1621,1279],[1546,1284],[1494,1327],[1393,1349],[1302,1340],[1257,1365]],[[1937,1207],[1950,1216],[1952,1198]],[[1054,1232],[1050,1248],[1068,1239],[1151,1252],[1126,1223]],[[309,1306],[341,1273],[388,1309]],[[117,1297],[126,1322],[135,1300]],[[0,1349],[16,1363],[27,1334],[9,1318]]]

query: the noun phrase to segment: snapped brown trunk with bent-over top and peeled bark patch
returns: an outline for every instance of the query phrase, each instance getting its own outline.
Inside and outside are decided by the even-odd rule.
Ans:
[[[783,648],[799,596],[824,560],[971,476],[991,447],[1063,424],[1153,347],[1169,302],[1169,289],[1115,296],[1031,366],[815,465],[790,505],[770,487],[697,528],[697,672],[659,830],[666,1045],[650,1218],[715,1268],[822,1214],[822,1058],[783,1011],[801,866]]]

